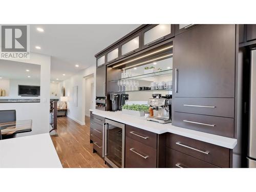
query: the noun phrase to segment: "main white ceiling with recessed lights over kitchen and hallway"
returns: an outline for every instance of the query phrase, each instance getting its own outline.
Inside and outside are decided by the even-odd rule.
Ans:
[[[30,25],[30,51],[52,56],[51,81],[96,65],[94,55],[140,25]],[[38,32],[37,27],[44,29]],[[35,49],[40,46],[41,49]],[[75,65],[79,65],[76,68]],[[63,76],[62,74],[66,74]]]

